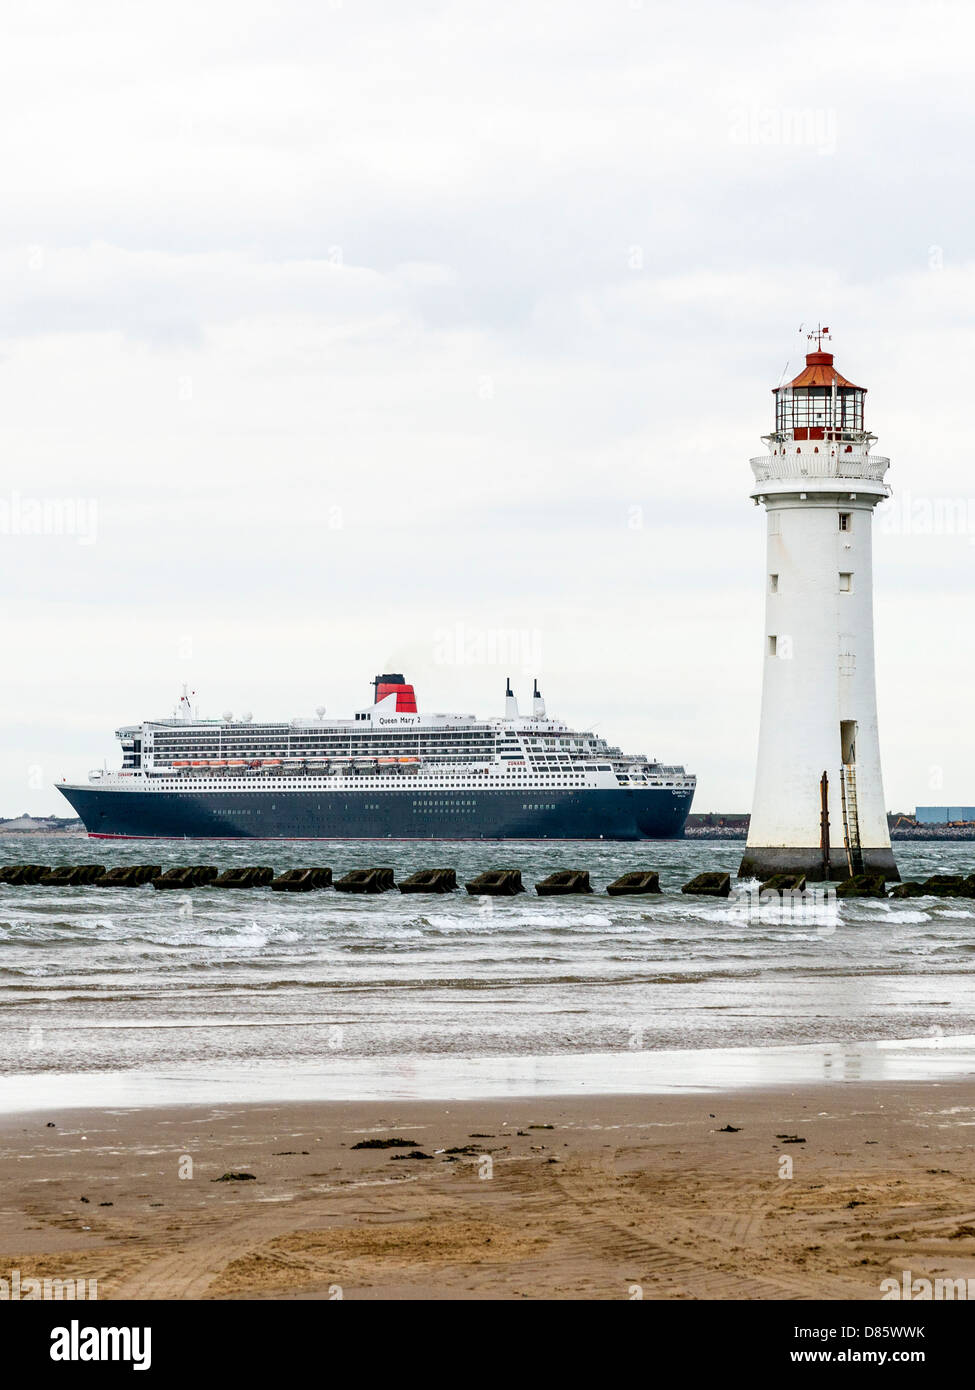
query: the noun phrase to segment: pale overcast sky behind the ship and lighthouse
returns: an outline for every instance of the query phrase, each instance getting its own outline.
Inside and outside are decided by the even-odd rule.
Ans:
[[[167,716],[529,709],[747,810],[829,324],[892,809],[975,802],[967,3],[39,0],[0,50],[0,815]]]

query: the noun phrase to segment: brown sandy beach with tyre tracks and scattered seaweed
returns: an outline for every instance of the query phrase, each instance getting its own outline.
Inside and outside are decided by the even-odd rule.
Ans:
[[[8,1115],[0,1273],[99,1298],[876,1300],[904,1269],[975,1276],[972,1125],[972,1080]]]

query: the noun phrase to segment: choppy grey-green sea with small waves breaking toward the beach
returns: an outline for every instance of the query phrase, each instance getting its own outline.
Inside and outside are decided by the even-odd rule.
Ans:
[[[510,867],[529,891],[0,885],[0,1109],[975,1074],[975,901],[680,892],[741,848],[4,835],[3,863]],[[903,878],[975,870],[964,842],[896,856]],[[595,891],[538,898],[556,869]],[[662,894],[609,898],[636,869]]]

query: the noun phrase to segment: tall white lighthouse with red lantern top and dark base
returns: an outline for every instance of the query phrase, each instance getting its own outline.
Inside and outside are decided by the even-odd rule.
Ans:
[[[889,459],[871,453],[867,391],[822,350],[775,396],[751,460],[768,514],[762,723],[741,877],[899,878],[880,776],[873,678],[873,507]]]

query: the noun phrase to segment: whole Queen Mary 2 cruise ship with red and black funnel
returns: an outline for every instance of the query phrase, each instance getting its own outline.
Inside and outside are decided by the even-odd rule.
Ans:
[[[695,778],[625,755],[545,713],[423,714],[402,674],[377,676],[352,719],[171,719],[115,731],[122,766],[57,784],[107,840],[672,840]]]

